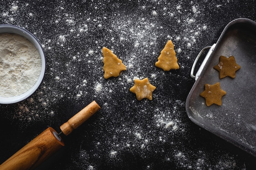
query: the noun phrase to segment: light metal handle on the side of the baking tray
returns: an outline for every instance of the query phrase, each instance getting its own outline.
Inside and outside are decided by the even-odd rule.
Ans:
[[[216,44],[213,44],[212,46],[206,46],[206,47],[204,47],[204,48],[198,53],[198,56],[195,58],[195,61],[194,61],[194,63],[193,63],[193,66],[192,66],[191,72],[190,72],[190,76],[191,76],[192,78],[194,78],[195,81],[198,79],[200,73],[202,72],[202,69],[204,68],[205,63],[206,63],[207,60],[209,59],[209,57],[210,57],[210,55],[211,55],[211,52],[213,51],[215,45],[216,45]],[[204,57],[204,60],[203,60],[202,64],[200,65],[198,71],[197,71],[196,74],[194,75],[195,65],[196,65],[196,63],[198,62],[198,59],[200,58],[200,56],[202,55],[202,53],[203,53],[205,50],[207,50],[207,49],[209,49],[209,51],[208,51],[207,55]]]

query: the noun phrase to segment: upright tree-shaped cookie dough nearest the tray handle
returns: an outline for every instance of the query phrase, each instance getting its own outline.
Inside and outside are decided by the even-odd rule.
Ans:
[[[180,68],[177,63],[176,53],[171,40],[169,40],[164,46],[164,49],[161,51],[155,66],[162,68],[164,71],[170,71],[171,69],[176,70]]]

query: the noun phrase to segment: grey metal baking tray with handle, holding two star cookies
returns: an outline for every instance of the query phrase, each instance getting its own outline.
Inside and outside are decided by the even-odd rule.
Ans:
[[[195,64],[206,49],[209,51],[193,75]],[[234,79],[219,79],[219,72],[213,68],[221,55],[233,55],[241,66]],[[195,78],[195,84],[186,99],[189,118],[256,156],[256,22],[239,18],[227,24],[216,44],[200,51],[191,69],[191,77]],[[204,84],[217,82],[227,94],[222,97],[222,106],[213,104],[207,107],[199,94],[204,91]]]

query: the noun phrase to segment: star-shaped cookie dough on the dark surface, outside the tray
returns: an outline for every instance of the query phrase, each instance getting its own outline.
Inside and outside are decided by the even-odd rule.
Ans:
[[[135,85],[130,88],[130,91],[136,94],[137,99],[147,98],[152,100],[152,92],[156,87],[149,83],[148,78],[142,80],[135,79],[134,82]]]

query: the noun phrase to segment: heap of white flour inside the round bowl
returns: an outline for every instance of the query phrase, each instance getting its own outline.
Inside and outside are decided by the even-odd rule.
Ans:
[[[35,46],[18,34],[0,33],[0,96],[13,97],[28,91],[41,71]]]

